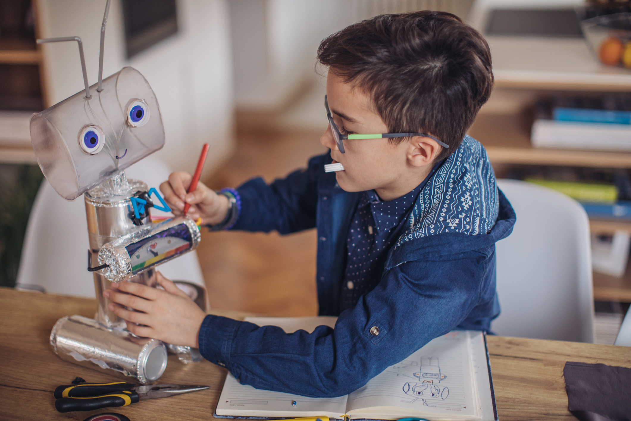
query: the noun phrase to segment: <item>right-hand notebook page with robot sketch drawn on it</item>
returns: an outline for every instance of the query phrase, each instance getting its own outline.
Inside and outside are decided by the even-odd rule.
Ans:
[[[452,331],[388,367],[348,395],[346,413],[355,417],[356,412],[357,418],[369,413],[365,408],[394,406],[401,408],[401,413],[440,414],[437,419],[441,420],[479,418],[468,337],[468,331]],[[374,412],[393,413],[391,408],[375,408]]]

